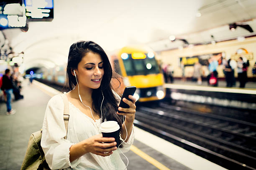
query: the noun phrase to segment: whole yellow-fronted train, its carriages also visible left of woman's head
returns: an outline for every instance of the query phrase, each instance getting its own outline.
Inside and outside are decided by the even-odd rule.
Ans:
[[[164,76],[156,60],[156,53],[146,46],[125,46],[108,54],[113,70],[121,75],[111,84],[122,95],[126,86],[136,86],[134,96],[138,102],[161,100],[166,95]],[[64,87],[67,64],[53,68],[40,68],[33,77],[36,80]],[[27,75],[27,77],[32,75]]]

